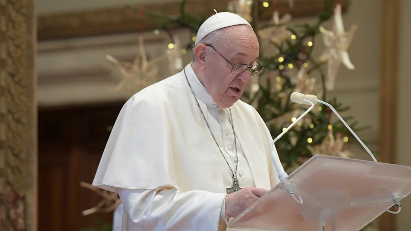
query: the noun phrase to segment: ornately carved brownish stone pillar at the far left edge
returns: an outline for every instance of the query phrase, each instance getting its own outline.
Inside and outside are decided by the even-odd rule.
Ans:
[[[34,0],[0,0],[0,230],[37,228]]]

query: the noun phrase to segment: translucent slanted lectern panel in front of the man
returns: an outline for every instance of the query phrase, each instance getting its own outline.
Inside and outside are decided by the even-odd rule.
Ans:
[[[287,192],[289,186],[298,199]],[[228,227],[251,230],[355,231],[411,192],[411,167],[315,155],[233,219]],[[396,211],[393,206],[391,210]],[[333,228],[334,223],[337,229]]]

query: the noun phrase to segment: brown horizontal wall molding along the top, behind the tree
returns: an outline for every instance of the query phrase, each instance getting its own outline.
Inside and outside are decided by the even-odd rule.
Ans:
[[[188,0],[185,12],[208,17],[217,11],[226,11],[229,0]],[[140,6],[147,10],[178,15],[180,1]],[[324,8],[324,0],[294,0],[290,8],[288,0],[279,0],[281,14],[290,13],[293,18],[316,16]],[[275,4],[271,4],[259,18],[272,18]],[[344,11],[346,9],[343,9]],[[204,12],[208,12],[204,14]],[[142,11],[136,6],[110,7],[79,12],[57,13],[38,16],[38,40],[55,40],[70,37],[95,36],[114,33],[142,32],[158,29],[155,20],[143,21]]]

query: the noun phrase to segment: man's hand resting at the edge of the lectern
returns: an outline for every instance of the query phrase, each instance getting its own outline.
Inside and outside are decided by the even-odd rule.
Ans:
[[[246,187],[226,196],[226,215],[236,217],[268,190],[264,188]]]

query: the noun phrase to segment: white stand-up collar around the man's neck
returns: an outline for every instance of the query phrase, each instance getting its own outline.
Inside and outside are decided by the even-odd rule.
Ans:
[[[196,73],[194,73],[191,63],[184,67],[187,79],[190,82],[191,87],[193,88],[194,94],[202,102],[206,103],[208,106],[218,107],[211,97],[210,92],[204,87],[200,80],[198,79]],[[184,70],[183,70],[184,71]],[[185,79],[185,78],[184,78]]]

